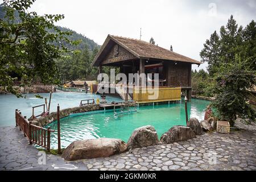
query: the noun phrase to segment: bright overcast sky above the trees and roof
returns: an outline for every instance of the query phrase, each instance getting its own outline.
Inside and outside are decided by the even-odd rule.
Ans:
[[[2,0],[0,0],[1,2]],[[57,25],[71,28],[102,45],[108,34],[149,41],[199,60],[205,40],[219,31],[231,14],[245,27],[256,20],[256,0],[82,1],[37,0],[30,11],[64,14]],[[193,65],[193,69],[206,67]]]

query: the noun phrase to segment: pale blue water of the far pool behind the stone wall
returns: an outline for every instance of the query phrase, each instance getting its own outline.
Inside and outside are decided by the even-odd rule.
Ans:
[[[49,93],[40,93],[40,96],[47,98],[49,102]],[[44,104],[44,99],[36,98],[35,94],[24,94],[26,98],[16,98],[12,94],[0,94],[0,127],[15,126],[15,109],[19,109],[22,115],[27,118],[32,115],[32,106]],[[91,93],[75,93],[75,92],[55,92],[52,93],[52,101],[50,111],[57,110],[57,104],[60,104],[60,109],[79,106],[81,100],[89,98],[100,98],[100,95]],[[122,101],[120,98],[107,96],[108,102]],[[42,113],[43,108],[35,110],[35,114]]]

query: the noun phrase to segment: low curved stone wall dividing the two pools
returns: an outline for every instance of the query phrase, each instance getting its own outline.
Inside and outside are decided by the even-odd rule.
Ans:
[[[88,111],[99,110],[99,109],[100,109],[100,107],[96,104],[86,105],[86,106],[81,106],[81,107],[67,108],[67,109],[60,110],[60,118],[67,117],[67,116],[69,116],[69,114],[85,113]],[[34,125],[38,125],[38,126],[45,126],[48,123],[51,123],[55,120],[57,120],[57,112],[52,112],[51,114],[47,115],[46,117],[36,118],[34,121],[32,121],[32,123]]]

